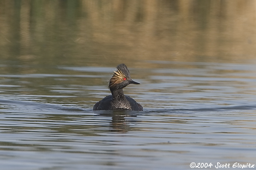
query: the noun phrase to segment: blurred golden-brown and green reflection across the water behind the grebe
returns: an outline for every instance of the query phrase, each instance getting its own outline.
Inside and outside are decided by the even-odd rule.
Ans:
[[[250,62],[254,0],[1,1],[1,58],[111,66],[145,60]]]

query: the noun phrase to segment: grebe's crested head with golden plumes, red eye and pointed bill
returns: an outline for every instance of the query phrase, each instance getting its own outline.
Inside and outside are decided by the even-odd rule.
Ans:
[[[116,71],[114,71],[114,75],[109,81],[108,88],[112,91],[125,88],[129,84],[139,85],[140,83],[134,82],[131,79],[130,72],[125,64],[117,65]]]

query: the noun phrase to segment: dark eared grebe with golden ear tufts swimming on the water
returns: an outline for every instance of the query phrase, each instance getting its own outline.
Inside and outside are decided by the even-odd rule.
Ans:
[[[114,75],[109,80],[108,88],[112,95],[109,95],[97,102],[93,111],[99,110],[113,110],[113,109],[127,109],[132,111],[143,111],[143,107],[129,96],[125,96],[123,88],[129,84],[139,85],[140,83],[134,82],[128,68],[125,64],[119,64],[114,71]]]

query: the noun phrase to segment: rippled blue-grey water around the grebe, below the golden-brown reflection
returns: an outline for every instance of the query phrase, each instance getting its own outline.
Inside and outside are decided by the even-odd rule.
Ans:
[[[124,89],[144,107],[135,112],[92,111],[110,92],[107,82],[91,79],[105,82],[113,68],[1,75],[1,165],[189,169],[191,162],[255,162],[253,65],[148,62],[159,68],[131,67],[141,85]]]

